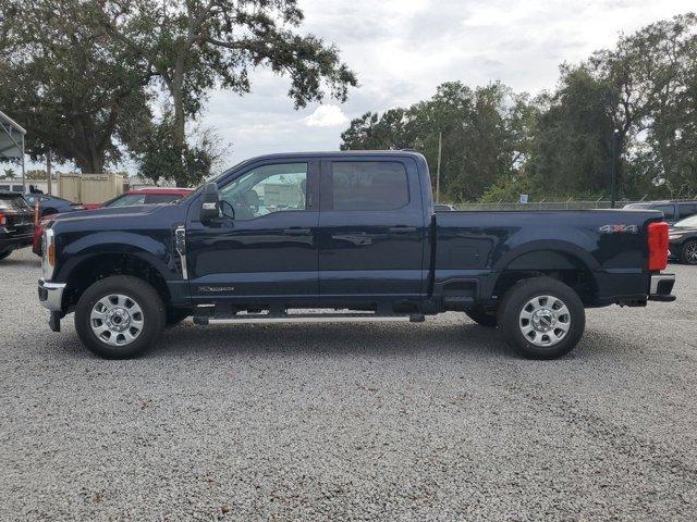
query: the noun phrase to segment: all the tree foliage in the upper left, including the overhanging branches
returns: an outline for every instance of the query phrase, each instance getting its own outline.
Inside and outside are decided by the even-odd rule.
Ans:
[[[297,32],[295,0],[0,0],[0,107],[28,130],[32,158],[51,153],[101,172],[126,148],[180,181],[209,173],[187,122],[215,87],[246,94],[249,72],[291,79],[296,108],[356,85],[339,50]],[[150,135],[150,103],[168,96],[169,145]],[[160,136],[161,138],[161,136]],[[175,174],[171,174],[175,173]]]

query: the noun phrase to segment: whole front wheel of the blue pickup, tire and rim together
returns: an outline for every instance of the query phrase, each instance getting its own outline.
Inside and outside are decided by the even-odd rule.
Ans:
[[[145,352],[164,326],[158,293],[130,275],[106,277],[87,288],[75,308],[75,330],[93,353],[127,359]]]

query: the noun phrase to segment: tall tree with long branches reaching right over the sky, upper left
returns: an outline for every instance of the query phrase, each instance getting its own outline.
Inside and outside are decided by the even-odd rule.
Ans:
[[[294,32],[303,21],[295,0],[114,0],[103,10],[106,30],[147,57],[169,94],[182,163],[186,121],[199,114],[208,90],[249,92],[254,67],[290,76],[296,108],[321,101],[326,89],[344,101],[356,85],[334,46]]]

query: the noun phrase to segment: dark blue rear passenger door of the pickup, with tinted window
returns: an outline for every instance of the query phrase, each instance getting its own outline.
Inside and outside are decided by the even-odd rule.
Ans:
[[[416,163],[327,159],[320,186],[320,295],[420,296],[427,228]]]

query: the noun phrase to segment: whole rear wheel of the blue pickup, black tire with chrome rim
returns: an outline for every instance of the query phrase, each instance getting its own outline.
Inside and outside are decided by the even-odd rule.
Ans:
[[[557,300],[549,303],[543,296]],[[534,299],[535,304],[530,304]],[[559,302],[566,307],[567,314],[560,308],[562,313],[557,316],[554,307]],[[535,316],[538,313],[535,307],[540,307],[541,315]],[[522,318],[524,309],[530,314],[529,320]],[[535,312],[530,313],[530,310]],[[538,330],[536,323],[539,328],[547,331]],[[529,359],[557,359],[565,356],[578,344],[585,327],[586,311],[578,294],[570,286],[549,277],[531,277],[516,283],[505,294],[499,307],[499,330],[503,338],[511,348]],[[527,335],[525,330],[529,330]],[[548,346],[540,346],[546,343],[546,337]]]

